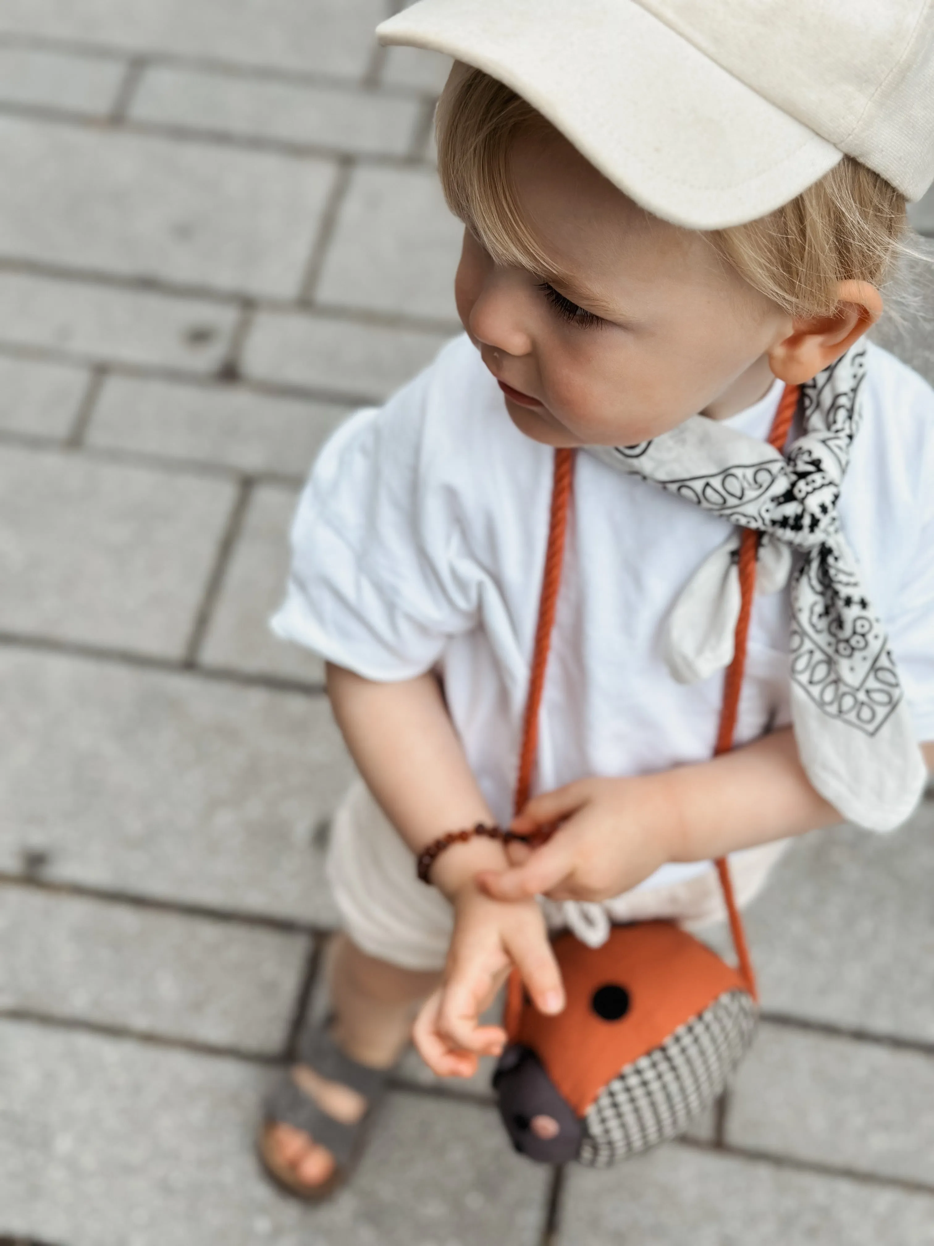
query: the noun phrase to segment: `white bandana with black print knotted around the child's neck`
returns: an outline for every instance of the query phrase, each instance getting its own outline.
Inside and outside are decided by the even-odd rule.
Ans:
[[[762,533],[758,591],[791,576],[791,705],[802,764],[844,817],[890,830],[912,812],[927,770],[894,658],[837,513],[861,424],[866,349],[856,346],[802,386],[803,435],[782,457],[726,424],[695,415],[636,446],[588,446],[616,471]],[[699,568],[669,621],[672,674],[726,667],[740,609],[740,533]]]

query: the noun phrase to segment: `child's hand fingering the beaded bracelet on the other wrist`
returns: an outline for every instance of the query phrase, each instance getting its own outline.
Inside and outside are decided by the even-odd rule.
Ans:
[[[531,800],[512,824],[523,835],[559,824],[534,851],[513,845],[512,868],[477,875],[494,900],[609,900],[636,886],[675,855],[676,817],[664,775],[582,779]]]

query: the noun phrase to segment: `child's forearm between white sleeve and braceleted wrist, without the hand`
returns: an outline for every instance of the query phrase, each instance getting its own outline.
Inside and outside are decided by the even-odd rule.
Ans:
[[[433,675],[375,683],[329,664],[328,694],[360,774],[415,854],[445,831],[492,821]],[[501,845],[474,839],[445,852],[431,877],[450,896],[504,862]]]

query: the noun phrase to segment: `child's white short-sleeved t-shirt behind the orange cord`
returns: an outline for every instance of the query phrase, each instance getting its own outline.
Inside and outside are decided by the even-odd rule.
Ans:
[[[768,435],[782,386],[729,422]],[[934,740],[934,391],[878,346],[839,512]],[[538,614],[553,451],[519,432],[469,339],[323,449],[293,528],[278,635],[374,680],[441,673],[494,817],[508,821]],[[663,624],[730,523],[575,456],[534,791],[707,759],[722,674],[682,685]],[[736,740],[790,723],[787,589],[755,603]],[[440,827],[440,831],[443,827]],[[666,865],[651,886],[701,865]]]

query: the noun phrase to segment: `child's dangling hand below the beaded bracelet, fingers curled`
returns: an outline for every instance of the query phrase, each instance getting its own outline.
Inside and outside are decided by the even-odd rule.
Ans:
[[[534,900],[501,903],[469,882],[453,897],[455,932],[445,978],[426,1001],[415,1023],[415,1045],[442,1078],[469,1078],[478,1055],[499,1055],[506,1044],[501,1025],[481,1025],[513,966],[535,1007],[558,1013],[564,1007],[558,962],[544,917]]]

